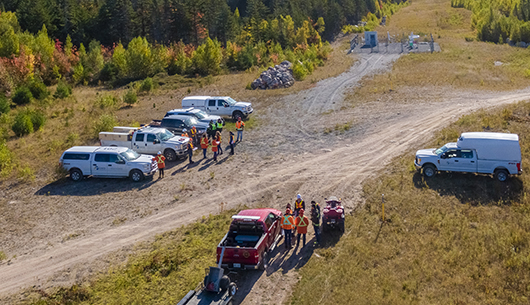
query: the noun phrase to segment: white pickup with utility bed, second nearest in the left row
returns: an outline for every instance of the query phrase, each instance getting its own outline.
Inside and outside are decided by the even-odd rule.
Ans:
[[[187,137],[175,136],[165,128],[114,127],[112,132],[100,132],[101,146],[130,148],[137,153],[156,155],[163,152],[167,161],[175,161],[188,151]]]

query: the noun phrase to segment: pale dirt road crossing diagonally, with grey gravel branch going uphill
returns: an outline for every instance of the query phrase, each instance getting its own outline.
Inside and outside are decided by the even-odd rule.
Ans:
[[[297,193],[317,201],[335,194],[353,208],[361,202],[364,179],[384,170],[392,158],[420,148],[434,131],[462,114],[523,100],[530,93],[530,89],[484,93],[404,88],[352,108],[345,94],[362,77],[388,69],[397,59],[384,54],[360,56],[349,72],[257,110],[260,128],[246,132],[236,156],[225,154],[218,164],[179,163],[170,167],[166,178],[140,186],[89,179],[80,184],[52,183],[22,196],[20,190],[16,194],[4,190],[0,195],[13,212],[3,221],[29,217],[35,211],[42,218],[31,221],[28,232],[13,228],[12,236],[20,239],[1,241],[0,249],[17,253],[17,258],[0,265],[0,295],[76,281],[90,273],[90,262],[216,213],[220,202],[228,207],[283,209]],[[351,128],[343,133],[325,133],[326,128],[346,123]],[[238,302],[277,303],[288,297],[296,268],[308,259],[307,251],[293,258],[278,251],[272,269],[254,275],[242,287],[246,293],[239,294]],[[279,270],[283,271],[275,272]],[[271,288],[277,295],[271,295]]]

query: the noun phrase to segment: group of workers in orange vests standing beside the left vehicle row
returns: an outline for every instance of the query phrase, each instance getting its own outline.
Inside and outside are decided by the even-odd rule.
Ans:
[[[208,125],[208,129],[206,130],[206,133],[202,135],[202,137],[199,140],[199,134],[197,132],[197,128],[195,126],[191,127],[190,132],[186,129],[182,131],[183,137],[190,138],[190,141],[188,142],[188,160],[189,164],[193,164],[193,150],[194,147],[198,147],[199,144],[202,149],[203,158],[206,159],[206,153],[208,151],[208,147],[212,146],[212,152],[213,152],[213,160],[217,162],[217,156],[223,154],[223,147],[221,146],[221,132],[223,131],[224,122],[221,119],[218,119],[217,122],[214,122],[213,120],[210,121],[210,124]],[[245,128],[245,123],[241,120],[239,117],[236,122],[236,131],[237,131],[237,139],[234,139],[234,133],[230,131],[230,138],[228,143],[230,144],[230,154],[234,154],[234,145],[236,142],[241,142],[243,140],[243,129]],[[156,161],[158,165],[158,178],[164,178],[164,168],[166,167],[165,164],[166,157],[162,155],[162,152],[158,152],[158,154],[153,158],[153,161]],[[304,243],[305,244],[305,243]]]

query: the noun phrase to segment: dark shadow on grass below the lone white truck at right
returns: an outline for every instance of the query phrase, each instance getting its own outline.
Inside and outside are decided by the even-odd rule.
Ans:
[[[430,188],[441,196],[454,196],[461,203],[472,205],[511,204],[523,195],[523,181],[512,177],[500,182],[488,175],[470,173],[439,173],[425,178],[419,172],[412,177],[416,188]]]

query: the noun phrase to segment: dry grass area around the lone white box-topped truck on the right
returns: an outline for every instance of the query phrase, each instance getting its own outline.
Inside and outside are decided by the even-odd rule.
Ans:
[[[510,131],[520,136],[524,168],[529,113],[530,103],[518,103],[464,116],[427,146],[463,131]],[[426,180],[413,159],[413,151],[396,158],[364,184],[366,204],[347,217],[335,247],[301,268],[290,304],[528,304],[528,169],[507,183],[458,173]]]

